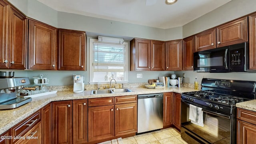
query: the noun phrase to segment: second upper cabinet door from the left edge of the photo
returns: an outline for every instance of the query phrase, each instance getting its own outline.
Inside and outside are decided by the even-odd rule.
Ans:
[[[10,69],[26,69],[26,17],[10,7],[9,18],[9,36],[8,36],[8,50],[9,50],[9,68]]]

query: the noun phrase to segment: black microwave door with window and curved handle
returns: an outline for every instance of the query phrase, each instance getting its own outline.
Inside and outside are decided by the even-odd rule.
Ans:
[[[228,46],[194,53],[195,72],[228,72]]]

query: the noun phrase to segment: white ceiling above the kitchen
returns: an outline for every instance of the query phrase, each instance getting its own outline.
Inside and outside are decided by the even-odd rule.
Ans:
[[[38,1],[60,12],[166,29],[183,26],[231,0],[177,0],[172,5],[165,0]]]

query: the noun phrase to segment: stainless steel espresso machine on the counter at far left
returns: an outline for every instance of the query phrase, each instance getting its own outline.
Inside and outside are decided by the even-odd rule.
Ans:
[[[22,106],[32,98],[16,96],[16,91],[24,85],[30,84],[29,78],[0,78],[0,110]]]

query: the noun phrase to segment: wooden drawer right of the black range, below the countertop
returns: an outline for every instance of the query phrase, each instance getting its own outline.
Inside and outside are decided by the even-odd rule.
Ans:
[[[256,112],[237,108],[237,119],[256,124]]]

